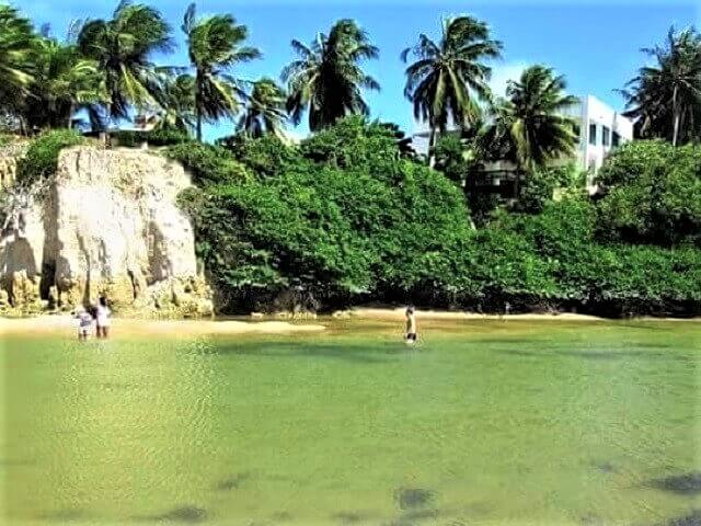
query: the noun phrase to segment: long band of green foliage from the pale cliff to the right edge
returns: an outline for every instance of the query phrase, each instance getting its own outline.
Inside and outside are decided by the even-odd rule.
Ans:
[[[484,311],[508,304],[608,316],[701,312],[701,251],[604,236],[608,196],[600,204],[574,191],[551,198],[553,187],[581,186],[570,169],[543,172],[530,202],[497,209],[475,230],[458,184],[400,156],[388,128],[364,119],[344,119],[298,147],[263,138],[202,151],[206,176],[181,204],[225,310],[276,308],[276,298],[291,294],[326,308],[382,300]],[[220,163],[231,162],[248,176],[221,175]],[[627,173],[620,158],[611,162]],[[608,181],[628,190],[639,179]]]

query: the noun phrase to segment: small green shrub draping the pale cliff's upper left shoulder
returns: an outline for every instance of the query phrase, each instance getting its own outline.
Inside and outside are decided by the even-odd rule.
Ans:
[[[46,132],[32,140],[25,156],[18,162],[16,180],[32,184],[56,172],[58,155],[64,148],[78,146],[85,139],[71,129]]]

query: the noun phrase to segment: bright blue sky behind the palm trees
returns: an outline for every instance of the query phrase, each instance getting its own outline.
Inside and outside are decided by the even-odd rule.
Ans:
[[[0,0],[2,1],[2,0]],[[16,0],[14,5],[38,26],[51,25],[64,36],[73,19],[104,18],[117,0]],[[177,50],[157,61],[186,65],[186,50],[180,32],[188,0],[151,0],[174,30]],[[617,88],[634,76],[643,61],[641,47],[660,43],[670,25],[699,25],[698,2],[658,1],[430,1],[430,0],[200,0],[200,14],[231,12],[249,26],[249,43],[264,57],[240,67],[238,75],[254,80],[262,76],[277,79],[285,64],[294,58],[291,38],[311,41],[326,32],[341,18],[350,18],[369,33],[380,48],[379,60],[366,70],[379,80],[382,90],[369,93],[372,117],[398,123],[412,132],[410,103],[403,96],[404,65],[400,53],[412,45],[418,33],[438,36],[441,16],[468,13],[487,22],[495,38],[504,43],[503,58],[493,64],[493,87],[499,91],[508,78],[517,77],[530,64],[545,64],[564,73],[568,91],[590,93],[614,108],[622,107]],[[231,124],[208,126],[206,138],[231,133]],[[295,134],[304,135],[300,125]]]

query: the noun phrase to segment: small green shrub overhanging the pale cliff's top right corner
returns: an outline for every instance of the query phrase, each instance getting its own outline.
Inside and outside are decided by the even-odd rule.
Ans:
[[[192,173],[198,186],[231,183],[250,178],[246,168],[220,146],[191,141],[166,148],[165,156],[180,161]]]

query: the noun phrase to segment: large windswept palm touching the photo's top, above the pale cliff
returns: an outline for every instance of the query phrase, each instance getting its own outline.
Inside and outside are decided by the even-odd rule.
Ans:
[[[110,117],[127,118],[129,107],[156,103],[160,76],[153,53],[173,48],[170,26],[156,9],[122,0],[112,20],[89,20],[78,27],[78,47],[96,60],[108,94]]]

